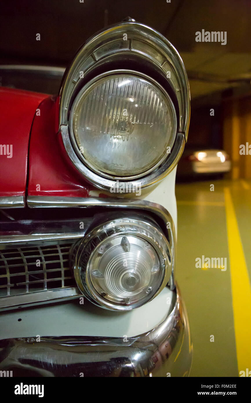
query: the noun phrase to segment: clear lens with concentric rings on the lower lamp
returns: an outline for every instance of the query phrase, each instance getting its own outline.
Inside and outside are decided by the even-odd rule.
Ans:
[[[91,282],[110,301],[138,301],[162,280],[158,255],[143,239],[120,235],[100,247],[89,261]]]

